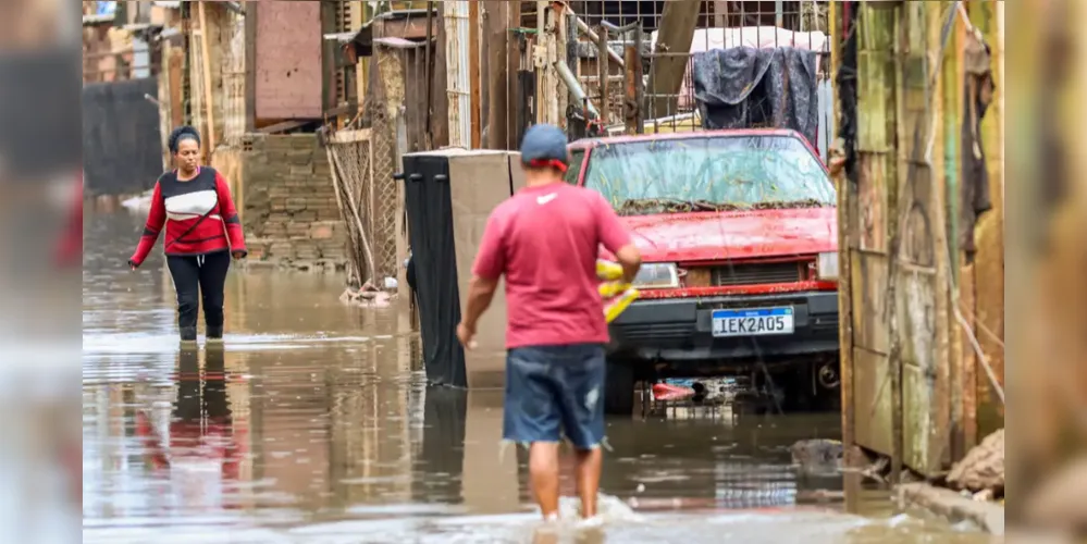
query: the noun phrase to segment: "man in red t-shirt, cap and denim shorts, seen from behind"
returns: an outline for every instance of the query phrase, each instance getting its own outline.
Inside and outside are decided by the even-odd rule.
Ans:
[[[506,276],[506,400],[503,438],[529,447],[536,503],[558,516],[558,446],[564,433],[578,460],[581,515],[596,518],[604,440],[604,305],[597,292],[600,246],[631,282],[641,255],[598,193],[563,181],[566,135],[529,128],[521,143],[526,187],[487,220],[472,268],[457,337],[471,349],[475,324]]]

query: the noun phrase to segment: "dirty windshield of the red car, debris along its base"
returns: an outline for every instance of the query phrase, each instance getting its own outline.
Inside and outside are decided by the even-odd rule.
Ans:
[[[818,159],[791,136],[720,136],[602,145],[585,187],[620,215],[835,206]]]

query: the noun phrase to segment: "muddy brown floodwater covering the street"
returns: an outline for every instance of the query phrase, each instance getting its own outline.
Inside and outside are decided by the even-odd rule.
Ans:
[[[160,249],[125,267],[141,226],[85,225],[84,542],[989,542],[798,474],[788,447],[837,415],[682,406],[609,419],[602,530],[540,528],[502,392],[428,390],[402,310],[345,307],[336,275],[232,272],[224,347],[182,350]]]

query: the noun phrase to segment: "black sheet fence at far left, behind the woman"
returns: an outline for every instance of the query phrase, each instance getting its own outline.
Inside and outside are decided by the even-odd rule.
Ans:
[[[133,195],[162,174],[158,96],[153,78],[96,83],[83,88],[83,168],[88,195]]]

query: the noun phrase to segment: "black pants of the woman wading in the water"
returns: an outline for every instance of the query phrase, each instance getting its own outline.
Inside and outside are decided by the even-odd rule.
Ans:
[[[170,275],[177,290],[177,325],[195,329],[203,299],[203,322],[208,326],[223,326],[223,289],[226,271],[231,268],[231,254],[220,251],[196,257],[166,256]]]

